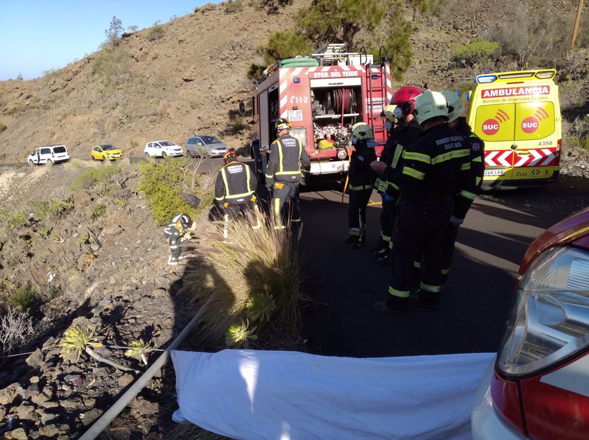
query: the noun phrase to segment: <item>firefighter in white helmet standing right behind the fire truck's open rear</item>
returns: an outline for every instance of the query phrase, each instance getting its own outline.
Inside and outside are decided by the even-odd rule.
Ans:
[[[350,248],[359,249],[366,239],[366,206],[374,188],[376,172],[370,164],[376,161],[376,142],[372,129],[366,122],[352,126],[352,145],[354,151],[348,169],[348,207],[349,236],[346,243]]]

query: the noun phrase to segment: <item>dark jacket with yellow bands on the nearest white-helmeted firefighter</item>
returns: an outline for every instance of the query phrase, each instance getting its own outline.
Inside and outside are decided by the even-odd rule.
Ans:
[[[434,202],[451,198],[468,185],[471,148],[448,124],[422,132],[403,154],[395,170],[403,202]],[[459,191],[456,191],[459,189]]]

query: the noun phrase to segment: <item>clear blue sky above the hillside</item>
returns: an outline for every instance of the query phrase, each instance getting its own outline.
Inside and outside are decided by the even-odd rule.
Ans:
[[[216,1],[213,1],[217,3]],[[194,12],[206,0],[2,0],[0,81],[38,78],[97,51],[112,16],[149,28]]]

